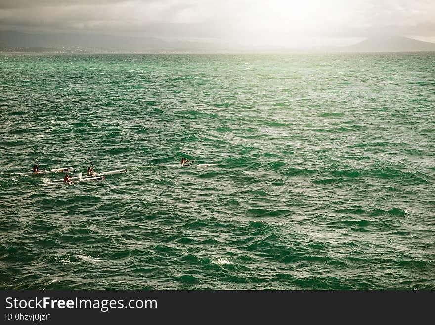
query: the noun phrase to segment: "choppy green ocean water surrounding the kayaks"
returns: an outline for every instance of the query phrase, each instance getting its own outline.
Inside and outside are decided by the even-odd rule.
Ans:
[[[434,103],[435,53],[0,55],[0,288],[434,290]]]

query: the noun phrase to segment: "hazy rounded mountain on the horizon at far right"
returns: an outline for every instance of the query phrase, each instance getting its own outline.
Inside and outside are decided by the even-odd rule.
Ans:
[[[417,52],[435,51],[435,43],[423,42],[403,36],[370,37],[342,48],[347,52]]]

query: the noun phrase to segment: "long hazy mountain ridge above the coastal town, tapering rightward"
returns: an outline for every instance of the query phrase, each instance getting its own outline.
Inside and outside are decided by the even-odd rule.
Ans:
[[[196,42],[166,42],[155,37],[115,36],[106,34],[47,33],[28,34],[0,31],[0,48],[82,48],[83,51],[159,52],[207,50],[208,45]]]

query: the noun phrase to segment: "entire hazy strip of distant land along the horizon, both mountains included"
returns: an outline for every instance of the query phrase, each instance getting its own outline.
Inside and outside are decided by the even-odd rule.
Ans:
[[[243,47],[234,44],[167,42],[151,37],[120,37],[103,34],[28,34],[0,31],[0,53],[55,54],[308,54],[346,52],[433,52],[435,43],[398,35],[366,38],[358,43],[322,47]]]

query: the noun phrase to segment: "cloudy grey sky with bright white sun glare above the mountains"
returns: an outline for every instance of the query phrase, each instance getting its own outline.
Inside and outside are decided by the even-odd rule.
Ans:
[[[435,0],[0,0],[0,30],[304,48],[375,35],[435,42]]]

